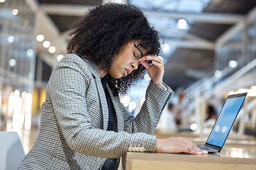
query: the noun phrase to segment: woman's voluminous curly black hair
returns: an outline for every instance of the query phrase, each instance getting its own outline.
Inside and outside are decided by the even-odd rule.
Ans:
[[[147,50],[148,55],[158,55],[161,50],[158,32],[149,26],[144,13],[136,6],[113,3],[97,6],[85,13],[72,28],[68,53],[102,64],[102,70],[111,67],[114,55],[130,40],[139,40],[138,46]],[[145,71],[139,64],[138,69],[127,77],[114,79],[107,74],[106,80],[114,96],[127,94]]]

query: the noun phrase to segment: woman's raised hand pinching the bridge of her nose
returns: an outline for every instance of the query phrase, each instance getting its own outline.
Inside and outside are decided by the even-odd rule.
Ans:
[[[151,60],[152,64],[146,62],[146,60]],[[164,62],[157,55],[145,55],[139,59],[139,62],[146,68],[150,79],[157,86],[163,86],[164,77]]]

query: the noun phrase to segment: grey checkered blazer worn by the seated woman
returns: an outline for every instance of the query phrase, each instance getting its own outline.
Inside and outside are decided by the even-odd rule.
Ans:
[[[173,95],[153,82],[136,118],[110,91],[117,131],[107,131],[108,108],[95,63],[66,55],[53,70],[42,106],[35,145],[19,169],[117,169],[129,147],[154,152],[151,135],[161,111]]]

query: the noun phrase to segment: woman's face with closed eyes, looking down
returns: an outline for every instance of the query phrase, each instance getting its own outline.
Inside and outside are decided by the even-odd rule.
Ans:
[[[120,49],[112,59],[112,65],[107,73],[114,79],[127,77],[134,69],[138,68],[139,58],[146,55],[146,50],[137,47],[139,40],[131,40]]]

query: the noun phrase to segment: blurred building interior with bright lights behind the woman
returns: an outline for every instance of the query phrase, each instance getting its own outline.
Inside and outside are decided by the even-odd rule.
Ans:
[[[214,124],[206,120],[208,107],[218,116],[228,95],[247,92],[226,146],[256,148],[255,0],[0,0],[0,131],[18,132],[29,152],[69,27],[107,2],[137,6],[159,31],[164,82],[175,94],[173,110],[166,106],[154,135],[205,141]],[[149,81],[144,74],[121,98],[134,115]]]

